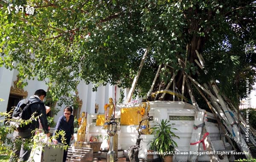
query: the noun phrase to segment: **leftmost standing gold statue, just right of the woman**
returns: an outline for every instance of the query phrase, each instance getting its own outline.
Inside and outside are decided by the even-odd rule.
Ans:
[[[81,118],[79,118],[79,128],[77,130],[77,140],[79,142],[84,142],[85,140],[85,133],[86,133],[86,126],[87,126],[87,119],[85,116],[85,112],[83,111],[81,114]]]

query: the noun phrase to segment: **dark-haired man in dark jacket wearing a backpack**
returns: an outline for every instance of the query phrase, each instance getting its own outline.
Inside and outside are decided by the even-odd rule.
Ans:
[[[34,117],[39,116],[42,129],[47,136],[50,136],[49,129],[48,129],[48,121],[46,115],[46,107],[44,105],[44,98],[46,97],[46,92],[44,90],[36,90],[35,94],[32,95],[29,99],[21,100],[17,107],[14,110],[13,118],[20,117],[23,120],[29,119],[32,114]],[[30,139],[34,134],[32,133],[33,130],[39,128],[39,121],[32,120],[32,123],[28,125],[21,125],[18,127],[15,138],[22,138],[23,140]],[[15,134],[15,133],[14,133]],[[14,148],[17,149],[17,148]],[[15,154],[18,153],[18,150],[14,150]],[[22,143],[20,148],[19,154],[19,161],[18,162],[25,162],[29,159],[31,150],[24,146]],[[13,159],[11,158],[10,161]]]

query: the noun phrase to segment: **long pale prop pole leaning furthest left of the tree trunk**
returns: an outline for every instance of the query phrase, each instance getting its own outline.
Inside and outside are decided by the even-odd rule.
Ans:
[[[126,103],[128,103],[128,102],[131,101],[132,94],[134,93],[135,86],[136,86],[137,81],[138,81],[138,79],[139,79],[140,72],[141,72],[141,70],[142,70],[142,67],[143,67],[145,58],[146,58],[146,56],[147,56],[147,54],[148,54],[149,48],[150,48],[150,46],[148,46],[148,48],[145,50],[145,53],[144,53],[144,55],[143,55],[143,57],[142,57],[142,59],[141,59],[141,61],[140,61],[139,71],[138,71],[137,75],[135,76],[134,81],[133,81],[133,83],[132,83],[132,85],[131,85],[131,90],[129,91],[128,96],[127,96],[127,98],[126,98]]]

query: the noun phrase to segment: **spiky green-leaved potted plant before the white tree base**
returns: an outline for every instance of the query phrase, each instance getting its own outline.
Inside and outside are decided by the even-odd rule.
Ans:
[[[164,162],[172,162],[172,156],[175,147],[177,147],[177,143],[173,140],[173,137],[180,139],[172,132],[171,129],[177,129],[172,128],[172,124],[169,124],[169,122],[170,121],[167,121],[167,119],[162,119],[160,123],[157,123],[152,128],[155,133],[155,139],[153,140],[152,145],[154,146],[154,150],[158,151]]]

